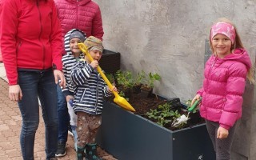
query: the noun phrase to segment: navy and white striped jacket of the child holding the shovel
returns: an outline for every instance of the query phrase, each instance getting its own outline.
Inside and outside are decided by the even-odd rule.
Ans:
[[[75,86],[74,112],[102,114],[103,96],[110,96],[111,92],[98,72],[80,60],[71,70],[70,82]]]

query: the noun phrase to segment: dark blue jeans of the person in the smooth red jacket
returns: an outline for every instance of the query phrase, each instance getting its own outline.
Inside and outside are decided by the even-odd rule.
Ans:
[[[20,143],[22,157],[34,159],[34,138],[39,124],[38,98],[46,127],[46,159],[54,158],[58,146],[57,92],[53,71],[18,71],[22,100],[18,102],[22,114]]]

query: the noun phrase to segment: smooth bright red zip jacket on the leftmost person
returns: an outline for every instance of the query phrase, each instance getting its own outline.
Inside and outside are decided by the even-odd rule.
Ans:
[[[62,70],[62,34],[53,0],[3,0],[0,45],[10,85],[18,69]]]

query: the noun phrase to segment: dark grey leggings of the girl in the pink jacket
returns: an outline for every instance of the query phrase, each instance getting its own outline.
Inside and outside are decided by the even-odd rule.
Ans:
[[[236,128],[236,122],[234,123],[234,126],[232,126],[229,130],[229,135],[227,138],[217,138],[217,131],[219,127],[218,122],[212,122],[206,120],[206,127],[208,134],[210,134],[210,139],[213,142],[214,150],[216,153],[216,160],[230,160],[230,152],[231,152],[231,146],[232,142],[234,140],[234,132]]]

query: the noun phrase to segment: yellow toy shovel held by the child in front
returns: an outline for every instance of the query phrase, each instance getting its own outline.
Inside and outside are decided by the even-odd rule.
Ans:
[[[78,43],[78,47],[79,47],[80,50],[82,50],[82,52],[83,52],[84,54],[86,54],[86,56],[89,58],[90,62],[92,62],[92,61],[94,60],[94,59],[90,56],[90,54],[89,54],[89,52],[88,52],[87,47],[86,47],[85,44],[83,44],[82,42],[79,42],[79,43]],[[110,81],[106,78],[106,75],[103,74],[102,69],[101,69],[100,66],[97,66],[97,70],[98,70],[98,73],[101,74],[101,76],[102,76],[102,78],[104,79],[104,81],[106,82],[107,86],[109,86],[110,89],[112,89],[114,86],[112,86],[112,84],[110,83]],[[119,106],[122,106],[122,108],[124,108],[124,109],[126,109],[126,110],[130,110],[130,111],[133,111],[133,112],[135,111],[135,110],[134,110],[134,107],[132,107],[132,106],[130,105],[130,103],[126,101],[125,98],[122,98],[122,97],[118,94],[118,92],[115,92],[115,91],[112,91],[112,92],[113,92],[114,97],[115,97],[115,98],[114,98],[114,102],[115,102],[115,103],[117,103]]]

